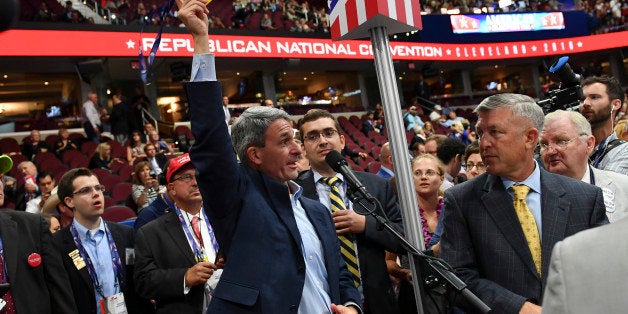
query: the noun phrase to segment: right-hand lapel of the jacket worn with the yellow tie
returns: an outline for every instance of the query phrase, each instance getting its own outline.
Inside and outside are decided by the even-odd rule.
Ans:
[[[541,169],[541,216],[543,235],[541,237],[542,275],[546,278],[549,270],[552,248],[564,239],[569,217],[569,200],[563,198],[566,191],[554,175]]]

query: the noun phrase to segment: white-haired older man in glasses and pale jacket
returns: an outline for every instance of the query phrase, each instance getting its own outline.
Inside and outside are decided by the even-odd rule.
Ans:
[[[563,110],[548,114],[539,142],[545,169],[599,186],[610,222],[628,216],[628,176],[589,165],[595,137],[585,117]]]

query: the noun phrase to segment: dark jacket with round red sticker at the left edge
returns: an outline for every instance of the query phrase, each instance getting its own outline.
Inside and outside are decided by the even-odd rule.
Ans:
[[[79,313],[48,224],[40,215],[0,212],[0,236],[17,313]],[[38,267],[28,265],[32,253],[41,256]]]

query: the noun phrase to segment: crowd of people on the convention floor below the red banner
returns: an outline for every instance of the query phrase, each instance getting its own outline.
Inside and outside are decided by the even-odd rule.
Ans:
[[[168,159],[150,124],[130,139],[97,144],[92,139],[100,137],[88,136],[93,169],[66,170],[57,185],[33,161],[43,165],[40,156],[55,152],[63,159],[77,145],[60,130],[49,148],[33,130],[13,171],[20,177],[0,174],[0,207],[20,204],[0,211],[0,270],[10,284],[3,311],[416,312],[411,283],[420,278],[404,248],[351,195],[351,181],[362,182],[380,204],[369,210],[404,232],[394,187],[395,168],[404,168],[390,144],[381,146],[376,174],[352,171],[343,158],[334,164],[328,157],[346,151],[357,134],[326,110],[308,111],[296,130],[272,106],[226,121],[228,99],[202,18],[209,11],[202,0],[177,4],[195,41],[192,79],[183,85],[195,144]],[[427,113],[412,105],[404,116],[410,141],[402,153],[413,157],[418,203],[410,210],[419,214],[423,244],[496,313],[628,307],[626,96],[608,76],[581,86],[579,112],[544,115],[534,99],[501,93],[467,117],[474,127],[447,107]],[[90,98],[88,106],[97,102]],[[382,108],[374,109],[364,119],[373,127],[367,134],[386,123]],[[85,131],[98,135],[102,121],[94,121],[85,116]],[[112,146],[122,147],[122,139],[127,149],[115,156]],[[135,229],[103,219],[107,187],[98,173],[116,162],[134,165]],[[11,169],[6,156],[0,169]],[[476,310],[453,299],[456,311]],[[451,306],[444,298],[422,303]]]

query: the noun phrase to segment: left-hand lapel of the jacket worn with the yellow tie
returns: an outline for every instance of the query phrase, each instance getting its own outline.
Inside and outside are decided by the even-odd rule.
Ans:
[[[532,260],[532,254],[521,229],[519,218],[517,218],[515,213],[514,205],[511,201],[504,201],[510,200],[511,197],[504,189],[502,180],[499,177],[489,175],[484,185],[484,192],[482,195],[484,208],[493,218],[495,225],[504,235],[506,241],[510,243],[516,254],[519,255],[519,258],[536,275],[537,272]]]

